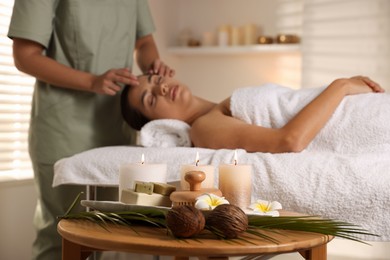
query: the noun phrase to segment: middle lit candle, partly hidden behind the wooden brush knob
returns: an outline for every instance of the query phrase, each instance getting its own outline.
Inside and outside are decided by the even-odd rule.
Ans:
[[[214,188],[214,166],[200,165],[198,152],[196,152],[195,164],[186,164],[180,167],[180,188],[182,190],[190,190],[190,184],[184,179],[186,173],[190,171],[201,171],[206,174],[206,178],[201,184],[202,189]]]

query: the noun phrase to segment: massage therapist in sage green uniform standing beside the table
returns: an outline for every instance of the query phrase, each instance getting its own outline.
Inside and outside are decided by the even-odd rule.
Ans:
[[[33,259],[61,259],[56,226],[81,186],[52,187],[53,164],[101,146],[129,144],[118,92],[143,73],[172,76],[159,59],[145,0],[15,0],[8,36],[16,67],[36,78],[29,150],[38,191]],[[102,192],[99,192],[102,194]]]

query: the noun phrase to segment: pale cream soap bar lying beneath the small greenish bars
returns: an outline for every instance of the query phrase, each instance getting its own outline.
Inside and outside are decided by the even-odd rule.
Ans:
[[[136,204],[145,206],[164,206],[171,207],[172,202],[169,196],[153,193],[151,195],[146,193],[135,192],[131,189],[123,189],[121,194],[121,202],[126,204]]]

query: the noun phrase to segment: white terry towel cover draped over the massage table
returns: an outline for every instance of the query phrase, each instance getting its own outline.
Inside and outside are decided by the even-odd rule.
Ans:
[[[180,166],[232,163],[234,151],[201,148],[103,147],[64,158],[55,164],[53,186],[117,186],[119,165],[167,163],[168,181],[180,179]],[[337,154],[247,153],[237,150],[238,164],[253,165],[252,200],[277,200],[286,210],[340,219],[381,235],[365,240],[390,241],[390,153]]]

